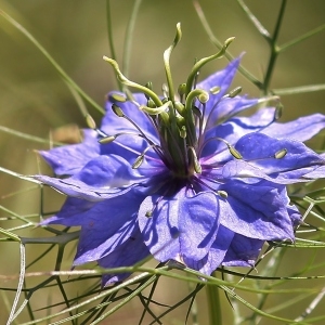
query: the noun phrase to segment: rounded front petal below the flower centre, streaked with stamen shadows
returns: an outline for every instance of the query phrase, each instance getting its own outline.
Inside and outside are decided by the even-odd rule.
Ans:
[[[145,217],[153,211],[151,218]],[[212,192],[191,196],[182,188],[171,197],[147,197],[139,210],[144,243],[160,261],[200,260],[216,239],[218,199]]]

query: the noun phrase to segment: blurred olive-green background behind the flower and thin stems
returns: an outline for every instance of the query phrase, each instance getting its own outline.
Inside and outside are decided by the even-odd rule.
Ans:
[[[273,31],[281,1],[247,0],[246,4],[261,23]],[[265,40],[255,29],[251,22],[235,0],[202,0],[200,5],[207,16],[214,35],[221,40],[235,36],[230,51],[234,55],[246,52],[243,65],[259,79],[265,74],[270,50]],[[123,54],[125,32],[131,15],[133,1],[112,0],[113,35],[117,60],[121,62]],[[107,38],[106,3],[96,1],[21,1],[0,0],[0,10],[12,15],[20,24],[51,53],[63,69],[101,106],[105,94],[116,89],[117,83],[110,66],[102,60],[110,55]],[[211,55],[216,47],[205,32],[192,1],[188,0],[144,0],[142,1],[135,23],[130,53],[130,79],[145,83],[153,81],[158,90],[165,81],[162,52],[172,42],[176,24],[182,23],[183,38],[172,54],[171,65],[174,83],[183,82],[196,57]],[[325,23],[324,0],[289,0],[281,29],[278,43],[308,32]],[[324,83],[325,80],[325,42],[324,32],[288,49],[277,60],[273,73],[271,89]],[[204,78],[222,68],[226,60],[222,58],[207,65],[200,74]],[[260,95],[260,91],[243,76],[238,76],[235,86],[242,86],[243,92],[251,96]],[[286,95],[282,98],[285,110],[283,120],[296,118],[311,113],[325,113],[325,91]],[[88,109],[95,120],[101,115],[93,107]],[[38,143],[15,136],[5,128],[25,132],[42,139],[61,142],[75,141],[78,127],[84,128],[86,121],[69,89],[63,82],[49,61],[18,30],[0,17],[0,166],[22,174],[50,173],[49,168],[40,161],[36,150],[49,148],[51,143]],[[51,136],[50,136],[51,134]],[[30,184],[17,178],[0,173],[0,226],[9,227],[8,216],[38,214],[40,195],[38,190],[29,188]],[[57,210],[63,197],[48,191],[44,197],[46,210]],[[37,217],[36,217],[37,218]],[[36,219],[34,219],[36,221]],[[13,220],[10,226],[18,225]],[[17,232],[22,236],[41,236],[41,230],[28,229]],[[27,258],[32,259],[39,251],[38,246],[27,247]],[[16,243],[0,242],[0,275],[18,274],[20,253]],[[299,257],[309,252],[299,252]],[[64,270],[68,270],[74,256],[74,246],[67,252]],[[49,255],[49,262],[32,266],[34,271],[51,270],[51,261],[55,253]],[[294,256],[283,271],[297,262]],[[323,270],[324,271],[324,270]],[[37,283],[37,280],[31,280]],[[0,278],[0,287],[14,288],[15,281]],[[312,284],[316,286],[316,283]],[[178,289],[178,286],[180,289]],[[52,290],[52,289],[51,289]],[[44,299],[55,300],[55,291],[43,292],[42,299],[34,301],[35,308],[44,306]],[[70,290],[78,291],[72,287]],[[186,285],[176,281],[165,281],[159,297],[165,303],[172,303],[186,294]],[[51,299],[49,298],[51,296]],[[4,324],[9,314],[12,294],[0,292],[0,324]],[[232,310],[224,299],[224,313]],[[325,303],[322,303],[323,309]],[[318,314],[322,314],[322,306]],[[298,310],[306,303],[298,304]],[[198,298],[198,310],[204,316],[205,295]],[[135,324],[141,306],[130,304],[134,313],[125,314],[122,310],[114,318],[103,324]],[[179,309],[164,324],[183,324],[186,310]],[[295,317],[295,309],[287,311],[286,316]],[[299,314],[299,313],[298,313]],[[132,318],[135,316],[134,318]],[[20,322],[27,321],[23,313]],[[226,320],[226,316],[225,316]],[[231,320],[231,317],[230,317]],[[269,322],[269,323],[268,323]],[[274,324],[264,321],[262,324]],[[20,324],[20,323],[18,323]],[[224,321],[224,324],[230,324]]]

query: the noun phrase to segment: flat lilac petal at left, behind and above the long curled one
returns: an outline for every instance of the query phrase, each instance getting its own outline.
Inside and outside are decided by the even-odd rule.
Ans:
[[[100,155],[98,134],[93,130],[83,130],[82,143],[58,146],[39,153],[56,174],[73,176],[79,172],[89,160]]]

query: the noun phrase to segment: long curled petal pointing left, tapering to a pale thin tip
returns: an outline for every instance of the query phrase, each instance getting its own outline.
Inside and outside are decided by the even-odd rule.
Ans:
[[[127,160],[110,155],[90,160],[80,172],[68,179],[61,180],[47,176],[34,178],[68,196],[100,202],[130,191],[136,185],[139,177]]]

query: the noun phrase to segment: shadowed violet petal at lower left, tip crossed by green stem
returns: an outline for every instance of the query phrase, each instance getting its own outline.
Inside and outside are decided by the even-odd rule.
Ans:
[[[119,245],[112,253],[99,260],[99,264],[105,269],[132,266],[148,256],[150,251],[143,244],[142,235],[136,227],[128,240]],[[130,273],[104,274],[102,286],[123,281],[129,275]]]

